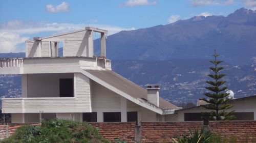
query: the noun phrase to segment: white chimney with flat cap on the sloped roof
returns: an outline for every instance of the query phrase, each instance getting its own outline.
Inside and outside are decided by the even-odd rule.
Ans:
[[[146,84],[147,101],[159,107],[159,84]]]

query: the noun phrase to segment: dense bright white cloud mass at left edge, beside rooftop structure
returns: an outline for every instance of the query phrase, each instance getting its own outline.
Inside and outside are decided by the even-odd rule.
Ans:
[[[0,53],[21,51],[17,48],[17,45],[28,39],[29,37],[20,37],[18,34],[11,32],[0,32]]]

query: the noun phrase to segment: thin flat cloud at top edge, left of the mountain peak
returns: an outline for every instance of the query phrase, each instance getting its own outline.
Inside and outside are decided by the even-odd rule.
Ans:
[[[186,0],[191,2],[191,6],[210,6],[210,5],[233,5],[234,0]]]

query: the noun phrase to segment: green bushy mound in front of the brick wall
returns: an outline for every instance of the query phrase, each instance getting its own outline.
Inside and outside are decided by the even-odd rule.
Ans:
[[[19,127],[5,143],[110,143],[98,130],[87,123],[52,119],[42,122],[41,126],[26,125]]]

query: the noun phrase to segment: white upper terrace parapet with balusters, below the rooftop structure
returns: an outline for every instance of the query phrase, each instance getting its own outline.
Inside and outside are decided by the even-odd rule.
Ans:
[[[111,70],[111,61],[78,56],[0,59],[1,74],[67,73],[78,68]]]

